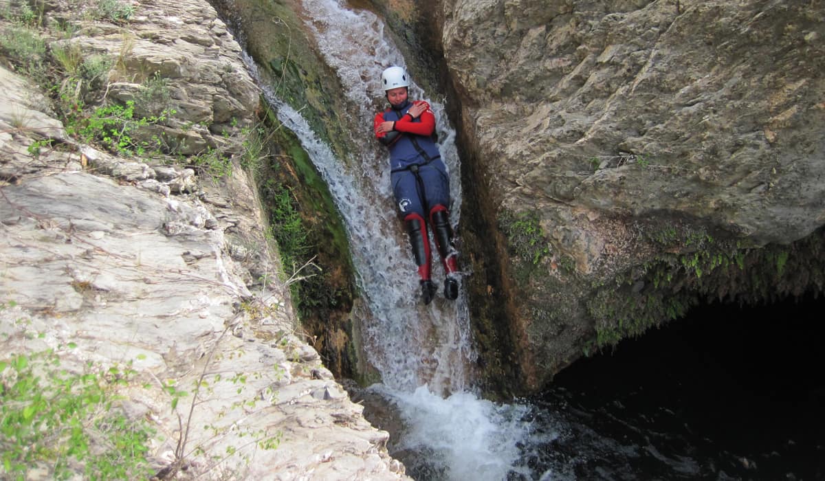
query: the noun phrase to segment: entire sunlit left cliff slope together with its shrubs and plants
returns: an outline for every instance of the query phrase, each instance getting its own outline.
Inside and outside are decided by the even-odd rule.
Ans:
[[[385,433],[298,338],[290,280],[271,281],[280,274],[273,238],[293,247],[296,264],[317,246],[347,258],[346,241],[314,231],[316,220],[334,230],[334,208],[313,205],[327,219],[299,210],[277,177],[268,187],[278,229],[263,235],[248,174],[301,171],[294,182],[323,182],[295,139],[256,117],[259,90],[214,10],[12,2],[0,11],[0,58],[9,154],[0,162],[9,240],[0,246],[0,473],[403,477],[403,466],[389,465]],[[301,155],[297,168],[281,162]],[[291,287],[310,304],[345,304],[340,271],[343,294],[332,300]],[[77,343],[64,341],[75,333]],[[324,425],[336,459],[306,456],[312,436],[280,444],[282,430],[304,429],[287,414],[298,398],[314,404],[306,428]],[[267,452],[276,448],[277,458]]]

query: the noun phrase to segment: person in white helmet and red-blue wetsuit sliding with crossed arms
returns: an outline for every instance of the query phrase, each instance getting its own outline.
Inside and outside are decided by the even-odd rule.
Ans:
[[[409,76],[401,67],[381,73],[381,85],[389,107],[375,115],[375,137],[389,148],[390,180],[396,206],[407,227],[413,257],[421,278],[424,304],[436,295],[431,280],[430,240],[433,229],[436,248],[444,265],[444,296],[459,295],[457,252],[450,227],[450,177],[434,139],[436,116],[426,101],[409,101]]]

